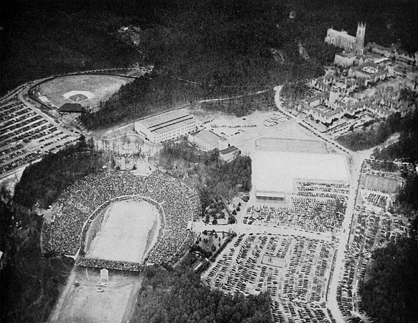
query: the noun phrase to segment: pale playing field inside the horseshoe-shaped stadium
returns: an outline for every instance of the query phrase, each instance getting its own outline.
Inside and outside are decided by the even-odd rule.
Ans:
[[[87,257],[141,262],[153,235],[158,232],[158,210],[148,202],[128,200],[111,204],[104,212],[104,221]],[[153,230],[151,234],[150,230]]]

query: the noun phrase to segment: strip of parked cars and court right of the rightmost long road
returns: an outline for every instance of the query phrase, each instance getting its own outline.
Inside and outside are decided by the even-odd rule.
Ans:
[[[339,277],[336,301],[344,317],[357,317],[372,323],[364,312],[359,288],[364,283],[366,266],[371,260],[373,250],[382,248],[389,241],[396,242],[402,236],[410,235],[411,225],[400,214],[388,212],[396,195],[400,169],[393,171],[377,170],[376,165],[366,160],[359,179],[357,196],[350,239],[343,260],[343,272]],[[373,168],[375,168],[373,170]]]

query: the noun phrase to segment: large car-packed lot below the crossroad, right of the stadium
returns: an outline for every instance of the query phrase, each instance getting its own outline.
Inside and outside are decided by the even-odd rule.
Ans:
[[[301,236],[241,234],[203,281],[230,293],[268,291],[275,322],[327,322],[318,304],[325,301],[334,250],[332,242]]]

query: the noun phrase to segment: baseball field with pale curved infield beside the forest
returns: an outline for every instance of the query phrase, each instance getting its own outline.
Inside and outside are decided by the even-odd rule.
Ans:
[[[94,110],[100,101],[107,100],[122,85],[132,80],[117,75],[60,76],[39,84],[35,94],[38,100],[53,109],[64,103],[79,103]]]

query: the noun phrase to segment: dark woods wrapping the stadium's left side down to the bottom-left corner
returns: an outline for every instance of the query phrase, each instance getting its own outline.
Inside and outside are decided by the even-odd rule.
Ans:
[[[1,188],[1,322],[47,320],[74,263],[68,257],[42,256],[43,218],[36,206],[47,209],[66,187],[102,169],[102,155],[93,146],[81,137],[75,146],[26,167],[14,197]]]

